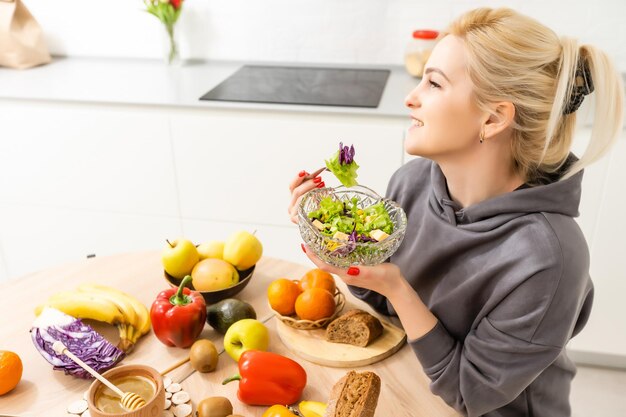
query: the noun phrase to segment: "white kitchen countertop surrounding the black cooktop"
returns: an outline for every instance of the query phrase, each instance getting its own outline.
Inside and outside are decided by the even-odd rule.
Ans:
[[[48,65],[27,70],[0,68],[0,99],[408,117],[404,97],[418,83],[400,66],[332,65],[391,70],[378,108],[199,100],[244,64],[187,61],[168,66],[148,59],[55,57]]]

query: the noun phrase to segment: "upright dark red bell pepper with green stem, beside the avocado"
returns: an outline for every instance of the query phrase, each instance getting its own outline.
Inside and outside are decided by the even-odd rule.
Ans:
[[[161,291],[150,308],[152,330],[167,346],[189,347],[204,328],[206,303],[202,294],[185,288],[189,281],[187,275],[178,288]]]

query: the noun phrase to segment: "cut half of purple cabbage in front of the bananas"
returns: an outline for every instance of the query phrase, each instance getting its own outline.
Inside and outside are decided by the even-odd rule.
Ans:
[[[58,355],[52,344],[63,342],[67,349],[87,365],[102,373],[121,361],[125,354],[113,346],[101,334],[80,319],[69,316],[57,309],[46,307],[33,322],[30,335],[35,347],[55,370],[78,378],[93,378],[66,355]]]

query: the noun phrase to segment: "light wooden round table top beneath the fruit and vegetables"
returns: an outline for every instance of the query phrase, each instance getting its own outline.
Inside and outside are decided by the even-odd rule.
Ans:
[[[310,267],[263,258],[255,270],[250,284],[237,298],[252,304],[259,319],[269,317],[265,290],[276,278],[300,278]],[[340,287],[344,285],[337,280]],[[148,308],[157,293],[167,284],[163,278],[159,253],[143,252],[112,257],[93,258],[57,268],[27,275],[0,285],[0,350],[18,353],[24,364],[24,373],[18,386],[8,394],[0,396],[0,415],[20,416],[65,416],[66,406],[81,399],[91,381],[86,381],[54,371],[52,366],[38,353],[31,341],[29,329],[35,319],[35,306],[44,302],[51,294],[65,289],[74,289],[82,282],[97,282],[125,291],[137,297]],[[369,309],[356,300],[344,287],[341,288],[350,303]],[[270,330],[269,350],[297,360],[308,375],[308,383],[302,399],[328,400],[330,387],[349,369],[330,368],[309,363],[290,352],[276,333],[276,319],[266,325]],[[397,323],[397,322],[396,322]],[[112,326],[97,327],[109,340],[116,338],[117,330]],[[206,325],[201,337],[223,346],[222,337]],[[117,340],[111,340],[116,343]],[[141,363],[162,371],[188,355],[188,349],[169,348],[161,344],[152,332],[142,337],[134,351],[121,363]],[[237,399],[238,384],[221,385],[221,381],[235,373],[237,364],[225,353],[220,355],[217,370],[202,374],[195,372],[189,363],[168,374],[174,381],[181,381],[194,405],[203,398],[221,395],[229,398],[236,414],[247,417],[261,416],[267,407],[246,406]],[[357,368],[371,370],[382,380],[381,395],[376,409],[379,417],[448,417],[457,416],[439,397],[428,388],[429,380],[424,375],[411,348],[404,345],[397,353],[382,362]]]

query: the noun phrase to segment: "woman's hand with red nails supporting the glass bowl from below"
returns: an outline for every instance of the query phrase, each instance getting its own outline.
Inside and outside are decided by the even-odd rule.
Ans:
[[[387,262],[376,266],[359,265],[342,269],[322,261],[305,244],[302,244],[302,250],[319,269],[337,275],[348,285],[376,291],[388,299],[391,299],[393,292],[406,283],[400,268],[392,263]]]

